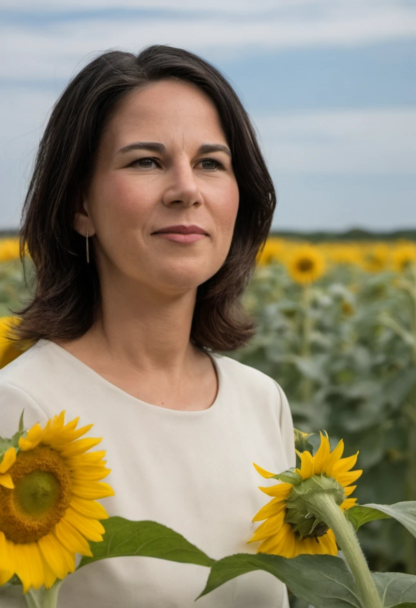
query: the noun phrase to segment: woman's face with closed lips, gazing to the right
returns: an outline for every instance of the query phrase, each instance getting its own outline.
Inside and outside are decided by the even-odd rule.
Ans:
[[[180,294],[212,277],[229,251],[238,210],[231,154],[212,100],[194,85],[169,80],[125,97],[102,135],[83,207],[75,225],[95,235],[100,280]],[[175,226],[203,233],[191,228],[184,237]]]

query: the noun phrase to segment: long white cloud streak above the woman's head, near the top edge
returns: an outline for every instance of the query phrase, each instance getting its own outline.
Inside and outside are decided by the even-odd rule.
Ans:
[[[260,0],[260,7],[268,4],[268,0]],[[234,0],[231,5],[237,10]],[[220,11],[211,10],[204,18],[92,15],[33,26],[13,21],[0,27],[0,45],[8,55],[8,60],[0,64],[0,77],[66,79],[91,54],[113,47],[137,51],[151,43],[185,47],[216,61],[253,52],[356,46],[416,36],[416,10],[409,6],[386,2],[375,9],[368,1],[360,4],[353,0],[348,4],[344,0],[304,2],[303,6],[308,10],[294,11],[293,5],[283,10],[281,4],[280,10],[256,13],[250,19],[241,17],[241,13],[224,17]],[[311,7],[315,12],[310,11]]]

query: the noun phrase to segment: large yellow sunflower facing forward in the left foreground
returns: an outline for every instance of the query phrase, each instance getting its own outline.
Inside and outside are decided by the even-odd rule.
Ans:
[[[0,454],[0,585],[16,574],[24,593],[74,572],[76,553],[92,555],[88,541],[102,541],[108,517],[95,501],[114,495],[100,481],[110,472],[105,452],[88,452],[101,438],[80,439],[92,424],[77,429],[64,415]]]

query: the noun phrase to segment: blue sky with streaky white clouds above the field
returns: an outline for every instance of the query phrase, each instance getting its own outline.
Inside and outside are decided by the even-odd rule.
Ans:
[[[0,230],[71,77],[171,44],[231,81],[277,190],[276,230],[416,229],[416,0],[0,0]]]

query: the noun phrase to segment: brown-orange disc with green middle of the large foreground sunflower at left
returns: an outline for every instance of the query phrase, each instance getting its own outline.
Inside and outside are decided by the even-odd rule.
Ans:
[[[71,471],[58,452],[39,446],[19,452],[9,472],[15,489],[0,486],[0,530],[15,543],[38,541],[71,502]]]

